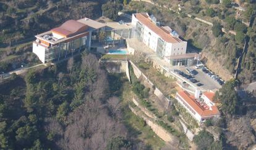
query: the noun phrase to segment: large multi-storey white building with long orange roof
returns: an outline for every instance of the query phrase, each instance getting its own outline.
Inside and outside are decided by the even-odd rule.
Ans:
[[[161,26],[153,15],[133,14],[132,25],[135,28],[135,38],[172,65],[190,66],[194,63],[195,55],[186,53],[187,41],[179,38],[179,34],[169,26]]]

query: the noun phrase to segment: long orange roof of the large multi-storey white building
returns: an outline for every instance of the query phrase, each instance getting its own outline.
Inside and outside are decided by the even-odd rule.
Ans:
[[[158,34],[158,36],[160,36],[164,41],[169,43],[183,42],[181,39],[173,37],[166,26],[160,27],[153,23],[148,14],[139,13],[134,15],[140,22],[143,23],[143,25],[147,26],[150,28],[150,30]]]

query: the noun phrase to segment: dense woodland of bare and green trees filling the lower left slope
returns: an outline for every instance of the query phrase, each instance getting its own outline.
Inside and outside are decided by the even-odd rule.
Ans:
[[[12,76],[0,85],[1,149],[146,148],[121,121],[115,79],[88,53]]]

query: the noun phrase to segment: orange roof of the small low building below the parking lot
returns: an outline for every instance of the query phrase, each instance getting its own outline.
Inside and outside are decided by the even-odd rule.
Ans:
[[[211,106],[210,109],[209,106],[207,108],[207,106],[200,105],[195,97],[186,91],[181,90],[177,92],[177,95],[186,101],[187,104],[189,104],[189,106],[194,109],[201,117],[220,115],[220,112],[216,106]]]

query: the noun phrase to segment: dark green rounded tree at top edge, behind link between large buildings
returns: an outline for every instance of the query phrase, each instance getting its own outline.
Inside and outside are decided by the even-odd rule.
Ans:
[[[106,4],[102,5],[101,9],[103,11],[103,15],[112,20],[116,20],[118,17],[119,10],[122,9],[122,5],[119,4],[119,2],[117,1],[108,1]]]

